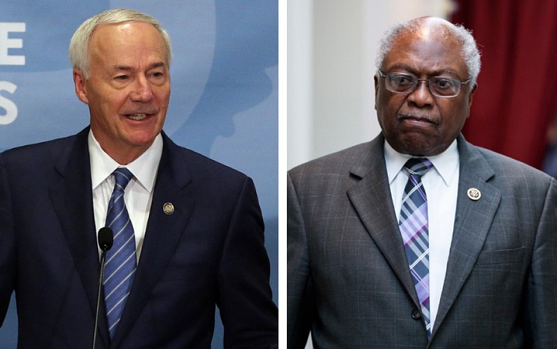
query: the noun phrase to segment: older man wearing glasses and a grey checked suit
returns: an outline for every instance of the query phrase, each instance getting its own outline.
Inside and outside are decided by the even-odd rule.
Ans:
[[[394,26],[382,133],[290,170],[288,348],[557,348],[557,183],[466,142],[479,72],[462,26]]]

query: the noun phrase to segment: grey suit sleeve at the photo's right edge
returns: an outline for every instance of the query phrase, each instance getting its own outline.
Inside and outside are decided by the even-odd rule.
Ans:
[[[526,343],[557,348],[557,184],[551,180],[526,285]]]

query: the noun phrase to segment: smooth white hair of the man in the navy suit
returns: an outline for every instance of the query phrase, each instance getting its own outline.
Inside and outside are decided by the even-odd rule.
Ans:
[[[170,44],[170,38],[168,33],[162,28],[160,22],[146,15],[145,13],[140,13],[134,10],[127,10],[125,8],[117,8],[113,10],[107,10],[93,17],[87,19],[85,22],[79,26],[70,40],[70,60],[74,68],[77,68],[83,72],[85,79],[89,77],[89,42],[91,41],[91,36],[93,31],[97,29],[98,26],[108,25],[108,24],[120,24],[123,22],[145,22],[152,24],[152,26],[159,31],[164,40],[164,47],[166,49],[166,60],[168,65],[170,65],[172,59],[172,49]]]

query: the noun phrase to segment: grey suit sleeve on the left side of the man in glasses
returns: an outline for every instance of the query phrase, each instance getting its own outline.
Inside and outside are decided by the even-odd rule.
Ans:
[[[304,348],[311,330],[313,286],[304,217],[288,174],[288,348]]]

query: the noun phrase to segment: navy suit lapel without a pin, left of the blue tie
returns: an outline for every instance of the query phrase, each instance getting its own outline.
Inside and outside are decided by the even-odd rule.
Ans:
[[[56,170],[58,181],[49,188],[56,216],[65,236],[73,263],[84,286],[92,316],[95,316],[100,261],[97,250],[93,194],[91,190],[91,165],[87,145],[89,129],[77,134],[70,147],[64,149]],[[108,343],[104,307],[99,315],[102,341]],[[91,327],[91,332],[93,327]]]

